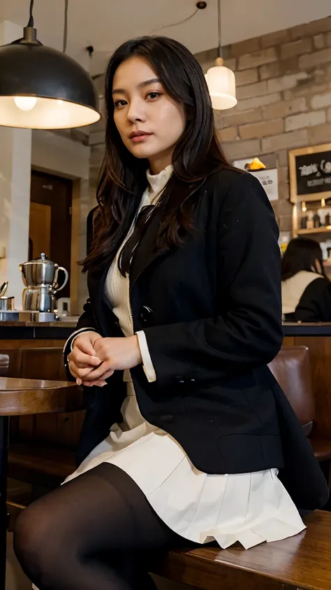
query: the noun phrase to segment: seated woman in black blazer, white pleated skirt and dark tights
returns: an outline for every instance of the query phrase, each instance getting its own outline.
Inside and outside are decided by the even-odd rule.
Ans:
[[[265,366],[282,342],[272,208],[221,153],[198,62],[168,38],[128,41],[105,102],[89,301],[65,349],[90,393],[89,456],[15,531],[40,590],[154,588],[155,552],[295,535],[295,503],[328,497]]]

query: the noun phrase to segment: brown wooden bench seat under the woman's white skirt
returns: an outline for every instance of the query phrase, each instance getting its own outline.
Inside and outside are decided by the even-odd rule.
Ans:
[[[172,551],[152,573],[203,590],[330,590],[331,514],[316,510],[305,522],[299,535],[248,551]]]

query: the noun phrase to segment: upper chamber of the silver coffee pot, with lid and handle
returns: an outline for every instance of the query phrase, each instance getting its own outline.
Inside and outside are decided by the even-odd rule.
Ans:
[[[59,270],[62,270],[65,274],[64,283],[59,286],[57,277]],[[52,260],[48,260],[45,253],[41,253],[40,258],[34,258],[34,260],[28,260],[20,265],[20,271],[22,272],[23,283],[26,287],[42,287],[50,286],[54,291],[61,291],[68,283],[69,273],[64,267],[59,267]]]

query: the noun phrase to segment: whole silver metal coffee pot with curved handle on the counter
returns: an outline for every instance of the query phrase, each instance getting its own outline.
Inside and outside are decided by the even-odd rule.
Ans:
[[[64,283],[59,286],[59,270],[64,272]],[[26,311],[52,312],[57,308],[57,291],[68,283],[69,274],[64,267],[59,267],[52,260],[48,260],[45,253],[40,258],[28,260],[20,265],[23,283],[22,304]]]

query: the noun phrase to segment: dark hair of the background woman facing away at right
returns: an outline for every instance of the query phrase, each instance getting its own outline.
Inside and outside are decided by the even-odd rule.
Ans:
[[[321,269],[317,267],[316,260],[320,263]],[[301,270],[316,272],[326,277],[321,246],[314,239],[299,237],[290,241],[281,261],[281,280],[286,281]]]

